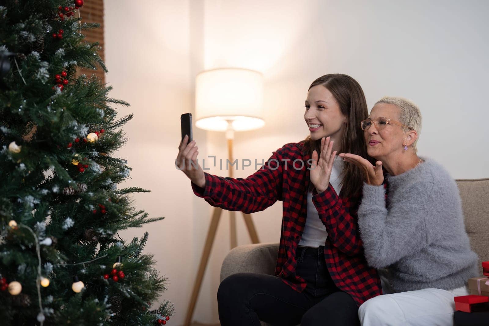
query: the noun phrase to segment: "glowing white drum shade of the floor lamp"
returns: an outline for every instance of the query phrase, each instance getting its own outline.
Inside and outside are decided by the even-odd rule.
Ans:
[[[253,130],[263,120],[263,76],[253,70],[220,68],[203,71],[195,80],[195,125],[225,131]]]

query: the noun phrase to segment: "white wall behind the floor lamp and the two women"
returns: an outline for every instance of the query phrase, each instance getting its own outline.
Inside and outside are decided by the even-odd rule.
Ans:
[[[111,96],[133,105],[121,115],[136,116],[125,128],[131,141],[120,155],[134,168],[127,184],[153,191],[135,196],[137,207],[167,217],[145,227],[146,251],[170,278],[164,297],[177,308],[172,324],[185,316],[212,213],[173,167],[178,116],[194,109],[199,71],[237,66],[264,73],[266,126],[236,134],[235,158],[261,161],[303,139],[307,88],[323,74],[341,72],[362,85],[369,108],[383,95],[416,102],[423,114],[420,153],[442,162],[453,177],[489,177],[488,14],[487,1],[106,1]],[[223,133],[194,128],[194,138],[200,158],[225,160]],[[218,321],[219,270],[229,247],[225,216],[194,315],[200,322]],[[281,203],[253,218],[262,242],[278,241]],[[249,243],[238,222],[238,243]]]

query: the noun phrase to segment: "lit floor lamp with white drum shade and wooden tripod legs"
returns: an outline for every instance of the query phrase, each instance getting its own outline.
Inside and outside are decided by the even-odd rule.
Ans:
[[[234,132],[258,129],[265,125],[262,118],[262,74],[239,68],[219,68],[201,72],[196,77],[195,113],[196,127],[204,130],[225,131],[228,160],[232,163]],[[232,165],[230,165],[229,176],[233,177]],[[229,211],[231,249],[237,246],[235,213]],[[189,326],[192,320],[221,214],[221,208],[214,208],[185,318],[185,326]],[[251,215],[241,214],[243,214],[251,241],[259,243]]]

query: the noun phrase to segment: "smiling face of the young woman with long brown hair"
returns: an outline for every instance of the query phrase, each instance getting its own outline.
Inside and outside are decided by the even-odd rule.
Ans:
[[[347,117],[341,113],[331,91],[322,85],[317,85],[308,91],[304,120],[311,132],[312,140],[331,136],[331,139],[339,144]]]

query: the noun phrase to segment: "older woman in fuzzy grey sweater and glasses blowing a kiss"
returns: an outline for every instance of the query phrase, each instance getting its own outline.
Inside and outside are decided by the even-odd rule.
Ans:
[[[365,172],[358,209],[365,257],[386,268],[383,290],[394,292],[360,306],[362,325],[453,325],[453,297],[467,295],[467,279],[477,275],[457,185],[443,166],[417,155],[415,104],[384,97],[361,127],[376,166],[339,156]]]

